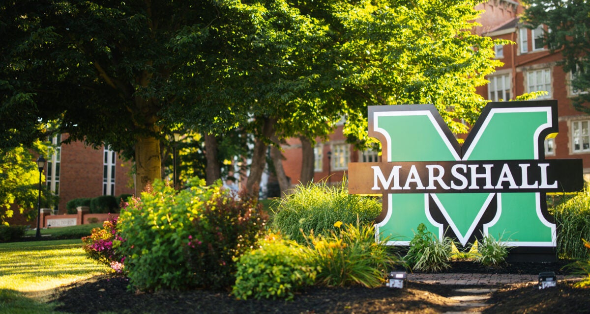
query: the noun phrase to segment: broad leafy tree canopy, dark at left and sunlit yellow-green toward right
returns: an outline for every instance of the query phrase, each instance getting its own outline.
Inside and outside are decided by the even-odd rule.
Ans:
[[[58,131],[109,145],[135,159],[140,190],[174,128],[204,134],[207,153],[215,135],[254,134],[254,184],[273,141],[325,136],[342,115],[366,141],[367,105],[432,103],[465,131],[499,65],[470,32],[479,2],[3,2],[0,142]]]

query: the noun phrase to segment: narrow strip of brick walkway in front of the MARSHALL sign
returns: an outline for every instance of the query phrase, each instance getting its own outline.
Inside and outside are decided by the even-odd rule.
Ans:
[[[576,279],[575,276],[557,276],[558,280]],[[424,283],[440,283],[441,285],[497,285],[523,282],[539,282],[539,275],[510,275],[510,274],[412,274],[407,280]]]

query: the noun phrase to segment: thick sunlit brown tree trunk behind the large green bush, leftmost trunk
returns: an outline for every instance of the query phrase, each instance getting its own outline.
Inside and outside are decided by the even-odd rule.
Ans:
[[[135,195],[145,190],[153,180],[162,176],[160,141],[155,137],[139,137],[135,144]]]

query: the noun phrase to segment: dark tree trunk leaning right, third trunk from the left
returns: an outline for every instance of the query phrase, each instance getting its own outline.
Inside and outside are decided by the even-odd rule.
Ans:
[[[252,154],[252,164],[250,166],[250,176],[246,182],[247,193],[251,196],[255,196],[260,189],[260,180],[262,180],[262,174],[264,172],[264,166],[266,165],[266,141],[274,134],[274,123],[277,121],[274,118],[257,117],[257,119],[263,120],[263,127],[261,134],[256,137],[254,142],[254,151]]]

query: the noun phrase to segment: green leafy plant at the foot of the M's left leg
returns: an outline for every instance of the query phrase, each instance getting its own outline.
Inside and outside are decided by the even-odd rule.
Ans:
[[[418,225],[418,233],[414,232],[414,238],[409,243],[404,262],[412,270],[438,272],[451,267],[452,251],[453,239],[450,237],[438,239],[421,223]]]

